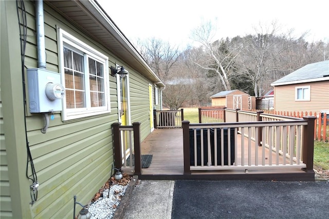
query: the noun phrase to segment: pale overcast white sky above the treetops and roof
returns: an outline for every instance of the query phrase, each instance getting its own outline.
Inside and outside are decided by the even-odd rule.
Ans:
[[[254,34],[253,27],[273,21],[296,36],[308,31],[306,41],[329,41],[327,0],[97,0],[123,34],[137,38],[161,38],[171,44],[191,45],[191,31],[202,22],[217,26],[217,37]]]

